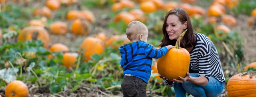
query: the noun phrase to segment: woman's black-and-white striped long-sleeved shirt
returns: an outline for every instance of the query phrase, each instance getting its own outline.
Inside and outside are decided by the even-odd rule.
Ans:
[[[205,76],[208,81],[210,76],[212,76],[220,82],[225,82],[218,51],[211,39],[204,34],[195,34],[196,45],[190,51],[189,72],[196,72],[198,76]],[[175,83],[169,85],[167,81],[164,80],[164,84],[168,87],[172,87]]]

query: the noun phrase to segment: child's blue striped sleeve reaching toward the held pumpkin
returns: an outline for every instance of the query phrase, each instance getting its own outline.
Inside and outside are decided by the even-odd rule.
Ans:
[[[167,47],[156,49],[152,45],[147,44],[144,48],[145,54],[147,57],[158,59],[165,55],[165,53],[168,51]]]

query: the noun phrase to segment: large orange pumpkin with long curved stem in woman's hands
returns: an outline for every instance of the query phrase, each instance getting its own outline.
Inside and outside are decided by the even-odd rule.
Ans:
[[[186,33],[185,30],[176,42],[175,48],[157,60],[158,73],[168,79],[184,78],[189,71],[190,54],[185,48],[180,48],[180,39]]]

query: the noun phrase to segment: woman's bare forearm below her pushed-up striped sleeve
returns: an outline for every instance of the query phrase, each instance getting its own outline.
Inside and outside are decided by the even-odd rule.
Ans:
[[[208,80],[204,76],[200,76],[200,77],[191,77],[190,76],[190,78],[188,78],[187,81],[190,81],[199,86],[206,86],[208,84]]]

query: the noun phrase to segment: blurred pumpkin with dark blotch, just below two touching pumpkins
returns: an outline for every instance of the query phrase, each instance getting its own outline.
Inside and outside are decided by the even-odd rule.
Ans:
[[[76,35],[85,35],[90,32],[90,23],[83,19],[75,19],[71,24],[71,32]]]

